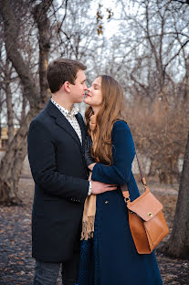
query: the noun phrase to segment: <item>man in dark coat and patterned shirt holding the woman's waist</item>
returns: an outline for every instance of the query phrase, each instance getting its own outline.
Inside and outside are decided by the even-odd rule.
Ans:
[[[56,284],[62,264],[64,285],[74,285],[79,267],[83,205],[91,193],[116,187],[88,181],[84,121],[73,107],[83,100],[86,86],[79,61],[58,58],[47,68],[52,98],[31,121],[28,157],[35,181],[32,213],[34,284]]]

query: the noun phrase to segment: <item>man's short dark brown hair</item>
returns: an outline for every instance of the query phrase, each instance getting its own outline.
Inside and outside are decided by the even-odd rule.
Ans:
[[[68,58],[57,58],[47,67],[47,83],[52,93],[57,92],[64,82],[75,84],[77,72],[87,69],[78,60]]]

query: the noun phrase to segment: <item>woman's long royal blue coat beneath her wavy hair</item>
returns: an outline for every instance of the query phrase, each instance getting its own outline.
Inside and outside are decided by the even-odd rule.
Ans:
[[[111,132],[113,164],[96,164],[92,180],[128,184],[131,200],[139,190],[131,172],[135,156],[131,131],[125,121],[116,121]],[[88,266],[89,265],[89,266]],[[139,255],[128,222],[120,187],[97,195],[94,238],[81,243],[79,285],[161,285],[154,253]]]

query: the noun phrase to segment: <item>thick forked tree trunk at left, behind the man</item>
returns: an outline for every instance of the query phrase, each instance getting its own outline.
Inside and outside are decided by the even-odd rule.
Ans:
[[[36,88],[35,80],[25,63],[19,46],[16,43],[16,18],[8,1],[0,2],[0,13],[3,16],[5,26],[5,47],[8,57],[12,61],[16,72],[23,85],[23,93],[30,103],[30,111],[26,120],[21,122],[20,129],[10,143],[4,158],[0,164],[0,203],[5,205],[19,204],[18,181],[21,174],[22,163],[26,156],[26,133],[30,121],[44,108],[49,97],[45,72],[47,69],[47,58],[50,48],[50,25],[47,19],[47,11],[53,0],[42,1],[34,9],[34,18],[37,22],[39,32],[39,80],[40,92]],[[14,42],[14,45],[12,43]],[[43,79],[41,78],[43,77]]]

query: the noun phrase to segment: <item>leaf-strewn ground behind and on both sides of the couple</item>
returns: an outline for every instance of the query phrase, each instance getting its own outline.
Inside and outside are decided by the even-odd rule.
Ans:
[[[31,285],[34,259],[31,258],[31,206],[33,180],[29,174],[20,179],[20,196],[23,206],[0,206],[0,284]],[[150,184],[152,192],[162,201],[170,229],[177,199],[177,189],[171,186]],[[165,241],[169,237],[166,237]],[[170,259],[157,252],[163,284],[189,284],[189,260]],[[60,279],[58,285],[61,284]],[[115,284],[116,285],[116,284]]]

